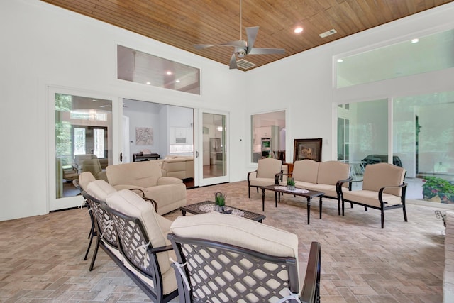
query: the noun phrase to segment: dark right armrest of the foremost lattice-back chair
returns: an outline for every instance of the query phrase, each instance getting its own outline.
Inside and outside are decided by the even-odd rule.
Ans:
[[[299,296],[301,302],[318,302],[320,295],[321,248],[319,242],[311,243],[304,285]],[[315,299],[315,300],[314,300]]]

